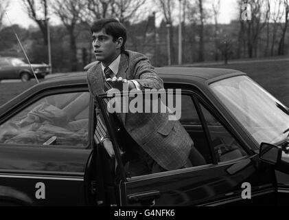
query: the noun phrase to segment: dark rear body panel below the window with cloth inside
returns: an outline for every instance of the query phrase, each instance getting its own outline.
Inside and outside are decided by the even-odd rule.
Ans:
[[[30,205],[84,205],[84,172],[90,153],[83,149],[1,146],[0,188],[10,186],[23,193]],[[36,198],[37,183],[44,184],[45,199]]]

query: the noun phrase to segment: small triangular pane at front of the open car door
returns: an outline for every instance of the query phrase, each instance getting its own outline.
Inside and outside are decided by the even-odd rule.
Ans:
[[[200,104],[200,107],[209,129],[209,135],[218,162],[226,162],[246,156],[246,152],[242,149],[238,141],[235,140],[235,137],[233,137],[231,133],[229,133],[229,131],[218,122],[218,120],[203,106],[203,104]],[[212,124],[211,122],[216,123]]]

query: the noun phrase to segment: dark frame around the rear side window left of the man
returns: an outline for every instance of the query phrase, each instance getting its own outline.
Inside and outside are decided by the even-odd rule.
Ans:
[[[45,98],[47,96],[54,96],[54,95],[59,95],[59,94],[73,94],[73,93],[78,93],[78,92],[87,92],[89,93],[89,89],[87,87],[78,87],[78,88],[72,88],[72,87],[56,87],[54,89],[45,89],[45,91],[43,92],[38,92],[35,94],[32,94],[31,96],[27,96],[25,98],[25,100],[23,100],[22,102],[20,102],[19,104],[16,105],[16,107],[12,107],[12,109],[8,110],[7,114],[2,118],[2,120],[0,121],[0,124],[4,124],[5,122],[7,122],[8,120],[10,120],[12,117],[14,117],[15,115],[17,115],[18,113],[20,113],[21,111],[23,111],[24,109],[26,109],[27,107],[29,107],[31,104],[34,104],[35,102],[37,102],[38,100],[41,100],[42,98]],[[92,99],[91,99],[91,95],[89,98],[89,114],[88,117],[92,117],[93,119],[93,103]],[[79,148],[79,150],[89,150],[91,148],[93,148],[93,131],[91,130],[91,126],[93,126],[93,120],[89,120],[89,125],[88,125],[88,144],[86,144],[85,148]],[[11,144],[12,145],[12,144]],[[7,146],[7,144],[4,143],[0,143],[0,147],[1,146]],[[34,148],[39,148],[39,147],[43,147],[43,145],[41,144],[13,144],[13,146],[27,146],[27,147],[34,147]],[[47,146],[46,146],[47,148]],[[50,145],[49,148],[66,148],[66,149],[78,149],[76,147],[73,146],[69,146],[69,145],[61,145],[61,146],[57,146],[57,145]]]

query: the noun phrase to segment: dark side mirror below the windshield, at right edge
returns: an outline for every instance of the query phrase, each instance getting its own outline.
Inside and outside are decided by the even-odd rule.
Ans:
[[[259,157],[269,164],[278,164],[281,161],[282,150],[276,145],[262,143],[259,149]]]

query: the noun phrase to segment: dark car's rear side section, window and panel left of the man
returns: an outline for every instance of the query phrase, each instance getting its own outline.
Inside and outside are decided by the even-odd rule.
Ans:
[[[87,87],[45,89],[0,120],[1,205],[83,206],[93,138]]]

